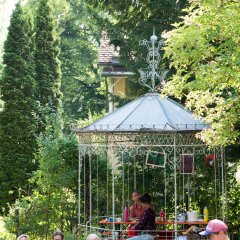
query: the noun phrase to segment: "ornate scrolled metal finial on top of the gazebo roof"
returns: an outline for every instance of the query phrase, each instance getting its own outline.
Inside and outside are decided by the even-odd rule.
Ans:
[[[157,41],[157,36],[155,35],[155,27],[153,27],[153,35],[150,38],[150,42],[146,39],[139,42],[140,45],[144,45],[148,48],[147,63],[148,68],[139,69],[140,78],[139,83],[145,87],[148,87],[151,92],[156,91],[156,81],[161,82],[167,75],[167,70],[161,69],[159,67],[161,56],[159,49],[164,45],[163,41]]]

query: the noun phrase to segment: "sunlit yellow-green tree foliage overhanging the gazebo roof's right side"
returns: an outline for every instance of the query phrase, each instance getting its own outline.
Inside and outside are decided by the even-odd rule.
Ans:
[[[201,134],[209,144],[239,138],[239,15],[238,1],[192,1],[183,22],[166,34],[165,57],[176,74],[165,93],[186,98],[194,115],[211,124]]]

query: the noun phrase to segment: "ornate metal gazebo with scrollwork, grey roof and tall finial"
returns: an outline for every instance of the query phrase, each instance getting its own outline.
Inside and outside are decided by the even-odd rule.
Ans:
[[[222,147],[210,148],[196,137],[197,133],[209,128],[207,124],[194,119],[192,113],[185,110],[179,103],[170,98],[161,98],[160,94],[155,93],[156,81],[161,81],[166,76],[166,71],[158,69],[160,61],[158,50],[162,42],[158,43],[155,35],[150,40],[150,42],[142,41],[142,44],[149,49],[147,57],[149,67],[140,72],[140,83],[149,86],[151,93],[128,103],[89,126],[75,129],[79,138],[78,224],[80,229],[82,227],[99,228],[97,224],[95,225],[94,217],[98,215],[96,211],[99,209],[98,169],[102,167],[99,165],[99,160],[103,158],[107,162],[106,182],[111,182],[111,189],[106,183],[106,201],[111,201],[111,207],[106,204],[107,214],[109,214],[108,208],[111,208],[113,219],[119,213],[120,200],[116,197],[116,177],[118,180],[121,179],[123,185],[122,203],[120,204],[122,209],[126,204],[126,199],[129,199],[129,189],[126,190],[129,188],[129,178],[134,179],[133,187],[135,189],[138,187],[137,174],[141,172],[141,187],[145,191],[144,185],[147,179],[145,179],[144,171],[146,168],[154,167],[163,176],[165,211],[167,211],[169,196],[173,196],[174,231],[175,237],[177,237],[178,207],[180,202],[184,203],[185,201],[185,195],[179,197],[178,189],[180,185],[183,185],[184,189],[186,183],[189,187],[189,181],[194,176],[194,165],[200,161],[198,160],[199,156],[204,156],[204,159],[206,156],[213,156],[214,168],[221,172],[221,174],[216,174],[215,171],[212,183],[216,194],[215,217],[221,210],[222,218],[225,218],[224,149]],[[148,84],[148,80],[150,80],[150,84]],[[184,164],[189,164],[189,162],[190,167],[185,168]],[[93,164],[96,170],[95,176],[92,176]],[[129,174],[127,167],[124,166],[129,168],[131,165],[134,171]],[[169,175],[172,176],[170,180]],[[86,179],[88,179],[88,184],[86,184]],[[172,193],[167,191],[169,181],[173,185]],[[217,193],[217,182],[221,183],[221,201],[217,199],[217,194],[219,194]],[[86,189],[87,185],[88,189]],[[93,194],[93,189],[95,194]],[[194,196],[190,195],[188,191],[188,198],[193,199]],[[117,201],[118,203],[116,203]],[[83,203],[84,207],[82,207]],[[88,203],[88,209],[85,207],[86,203]],[[113,223],[114,230],[115,224]]]

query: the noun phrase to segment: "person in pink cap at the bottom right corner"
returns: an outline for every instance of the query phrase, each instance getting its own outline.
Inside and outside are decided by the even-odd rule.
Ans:
[[[205,231],[199,233],[201,236],[208,236],[213,240],[230,240],[227,234],[228,226],[221,220],[211,220]]]

